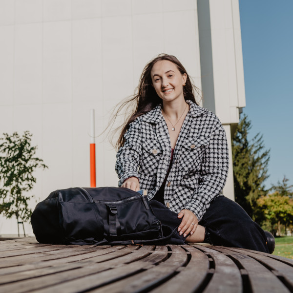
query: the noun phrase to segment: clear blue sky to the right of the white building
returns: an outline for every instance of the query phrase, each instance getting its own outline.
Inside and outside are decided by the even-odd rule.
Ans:
[[[266,187],[293,184],[293,0],[239,0],[250,135],[271,149]]]

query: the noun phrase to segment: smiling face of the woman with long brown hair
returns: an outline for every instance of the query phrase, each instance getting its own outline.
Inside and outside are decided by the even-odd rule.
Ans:
[[[163,101],[184,100],[183,84],[186,83],[187,75],[181,74],[176,64],[168,60],[158,61],[150,74],[156,93]]]

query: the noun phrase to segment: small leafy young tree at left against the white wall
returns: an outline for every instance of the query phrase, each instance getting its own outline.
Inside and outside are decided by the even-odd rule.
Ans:
[[[31,146],[31,136],[24,131],[22,136],[14,132],[3,133],[0,138],[0,213],[7,218],[15,216],[18,224],[31,216],[28,201],[34,195],[27,191],[36,183],[33,171],[47,168],[42,159],[35,157],[37,146]]]

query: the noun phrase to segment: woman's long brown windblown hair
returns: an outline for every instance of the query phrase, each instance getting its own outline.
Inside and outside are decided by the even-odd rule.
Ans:
[[[122,128],[119,139],[117,143],[115,144],[115,148],[118,149],[119,147],[124,145],[125,139],[124,134],[126,133],[127,129],[129,128],[129,124],[133,122],[137,117],[146,114],[146,112],[152,110],[157,105],[162,103],[161,98],[157,95],[154,87],[152,86],[152,80],[151,80],[151,69],[153,65],[161,60],[167,60],[177,65],[178,70],[181,74],[187,75],[186,85],[183,87],[183,95],[185,100],[190,100],[196,105],[198,103],[195,100],[195,92],[200,96],[199,89],[192,84],[191,79],[189,78],[186,69],[184,66],[180,63],[180,61],[172,55],[167,54],[160,54],[153,60],[151,60],[149,63],[146,64],[143,73],[140,77],[140,81],[137,87],[137,93],[128,99],[126,102],[123,102],[116,111],[116,114],[112,118],[112,124],[116,120],[117,116],[121,112],[121,110],[126,106],[126,113],[128,110],[132,107],[132,111],[130,112],[130,115],[126,119],[125,123],[116,128],[114,132],[118,131],[120,128]]]

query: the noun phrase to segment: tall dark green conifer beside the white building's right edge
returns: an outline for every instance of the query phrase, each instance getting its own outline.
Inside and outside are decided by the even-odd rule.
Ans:
[[[264,149],[259,133],[248,139],[250,129],[251,121],[244,115],[232,138],[234,192],[235,201],[257,220],[256,201],[267,194],[264,181],[269,177],[270,150]]]

